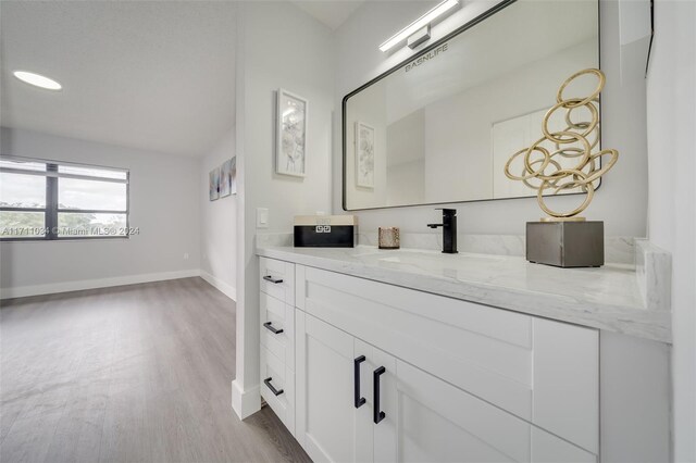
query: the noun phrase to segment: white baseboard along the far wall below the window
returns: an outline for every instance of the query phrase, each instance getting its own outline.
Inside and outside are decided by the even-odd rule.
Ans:
[[[78,281],[54,283],[48,285],[16,286],[10,288],[1,288],[0,299],[52,295],[57,292],[79,291],[83,289],[109,288],[112,286],[163,281],[167,279],[189,278],[192,276],[200,276],[200,270],[191,268],[177,272],[148,273],[140,275],[116,276],[113,278],[83,279]]]

